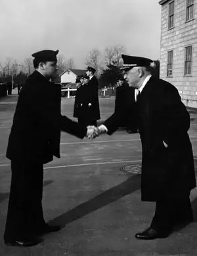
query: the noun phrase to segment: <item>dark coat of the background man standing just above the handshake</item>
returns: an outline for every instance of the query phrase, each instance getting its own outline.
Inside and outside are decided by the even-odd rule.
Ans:
[[[84,84],[83,86],[84,90],[82,111],[84,113],[84,117],[85,119],[89,120],[99,120],[99,82],[96,77],[93,76],[91,80],[89,80],[88,84]],[[89,103],[91,103],[91,106],[89,106]]]

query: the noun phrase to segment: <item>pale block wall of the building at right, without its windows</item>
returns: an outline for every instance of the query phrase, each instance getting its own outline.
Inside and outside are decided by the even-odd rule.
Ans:
[[[160,78],[179,90],[186,106],[197,108],[197,0],[194,18],[186,21],[186,0],[174,0],[174,26],[168,28],[169,4],[162,0]],[[185,47],[192,46],[192,74],[185,76]],[[167,77],[167,51],[173,50],[173,75]]]

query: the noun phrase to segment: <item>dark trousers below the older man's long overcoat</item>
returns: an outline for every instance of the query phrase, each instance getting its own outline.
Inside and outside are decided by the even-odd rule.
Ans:
[[[192,219],[189,195],[178,199],[163,197],[156,201],[156,210],[150,227],[157,232],[171,232],[173,226]]]

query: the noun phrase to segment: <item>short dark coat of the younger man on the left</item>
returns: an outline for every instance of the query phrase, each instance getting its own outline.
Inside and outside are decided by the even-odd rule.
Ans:
[[[22,86],[7,158],[43,164],[60,158],[60,131],[83,138],[86,127],[61,115],[61,88],[35,71]]]

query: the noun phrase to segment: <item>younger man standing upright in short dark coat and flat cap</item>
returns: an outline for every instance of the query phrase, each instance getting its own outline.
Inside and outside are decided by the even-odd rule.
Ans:
[[[60,131],[80,139],[87,127],[61,115],[61,88],[50,82],[56,74],[57,51],[43,50],[32,56],[35,71],[22,86],[7,146],[11,160],[11,191],[4,240],[7,245],[32,246],[47,232],[43,218],[43,164],[60,158]]]

